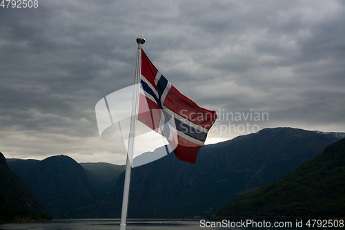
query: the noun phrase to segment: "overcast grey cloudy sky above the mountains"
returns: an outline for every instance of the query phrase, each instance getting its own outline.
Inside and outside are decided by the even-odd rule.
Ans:
[[[7,158],[125,164],[99,137],[95,105],[134,82],[141,34],[172,85],[228,113],[208,144],[267,127],[345,131],[345,1],[38,2],[0,8]]]

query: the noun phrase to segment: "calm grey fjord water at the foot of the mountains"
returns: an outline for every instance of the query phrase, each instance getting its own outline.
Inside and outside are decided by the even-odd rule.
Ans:
[[[108,230],[119,229],[119,219],[71,219],[50,222],[0,224],[0,230]],[[196,229],[246,229],[200,227],[199,220],[128,220],[128,230],[196,230]],[[249,228],[248,228],[249,229]],[[290,228],[250,228],[253,229],[296,229]],[[298,228],[305,229],[305,228]]]

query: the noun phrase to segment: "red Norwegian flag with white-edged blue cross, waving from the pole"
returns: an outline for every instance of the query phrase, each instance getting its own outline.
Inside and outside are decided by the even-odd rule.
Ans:
[[[179,160],[195,163],[217,119],[215,111],[201,108],[182,95],[155,68],[144,50],[140,82],[138,120],[164,135]]]

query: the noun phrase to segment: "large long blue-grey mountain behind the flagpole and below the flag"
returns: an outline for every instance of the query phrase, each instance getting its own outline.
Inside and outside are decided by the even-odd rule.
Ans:
[[[130,218],[193,218],[214,215],[240,195],[281,178],[339,140],[297,128],[265,128],[204,146],[197,163],[169,154],[132,169]],[[119,218],[124,173],[115,189],[79,217]]]

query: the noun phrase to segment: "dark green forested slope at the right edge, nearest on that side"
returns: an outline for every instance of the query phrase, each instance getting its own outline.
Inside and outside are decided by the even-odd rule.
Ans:
[[[217,212],[216,218],[345,218],[345,139]]]

